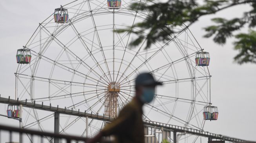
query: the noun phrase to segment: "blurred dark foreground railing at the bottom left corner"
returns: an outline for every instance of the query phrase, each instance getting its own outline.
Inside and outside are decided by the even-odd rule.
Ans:
[[[0,143],[17,143],[13,137],[18,137],[19,143],[53,143],[54,139],[59,139],[61,143],[86,143],[89,138],[79,136],[70,136],[67,134],[54,134],[51,132],[41,132],[37,130],[20,129],[0,125]],[[38,139],[34,139],[34,137]],[[24,139],[25,138],[25,139]],[[101,143],[112,143],[111,141],[102,140]]]

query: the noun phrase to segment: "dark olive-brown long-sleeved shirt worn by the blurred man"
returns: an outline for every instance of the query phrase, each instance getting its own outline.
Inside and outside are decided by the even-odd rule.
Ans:
[[[114,143],[145,143],[142,107],[133,99],[119,116],[101,131],[103,136],[114,135]]]

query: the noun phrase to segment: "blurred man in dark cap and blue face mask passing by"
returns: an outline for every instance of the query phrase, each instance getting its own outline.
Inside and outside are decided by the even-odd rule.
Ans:
[[[123,107],[119,116],[105,126],[94,138],[86,143],[96,143],[102,136],[114,135],[114,143],[145,143],[142,122],[142,106],[154,99],[156,82],[149,73],[141,73],[135,81],[136,94],[133,100]]]

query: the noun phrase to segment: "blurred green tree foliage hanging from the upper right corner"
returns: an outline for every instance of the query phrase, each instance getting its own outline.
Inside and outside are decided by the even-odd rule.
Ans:
[[[256,0],[168,0],[160,2],[153,0],[154,4],[134,3],[131,8],[134,11],[149,11],[145,21],[135,23],[125,30],[137,34],[138,37],[132,40],[131,47],[138,46],[147,39],[146,48],[150,48],[156,41],[169,41],[169,35],[179,31],[174,31],[168,25],[177,26],[183,23],[189,27],[198,18],[204,15],[214,14],[223,9],[228,9],[235,5],[249,4],[251,9],[246,11],[243,16],[230,20],[225,18],[213,18],[214,25],[203,28],[207,34],[205,38],[213,37],[213,41],[223,45],[227,38],[233,37],[233,33],[247,26],[252,29],[256,26]],[[200,2],[200,4],[199,4]],[[146,35],[144,31],[149,31]],[[249,33],[241,33],[234,36],[238,41],[234,42],[234,49],[240,53],[234,57],[239,63],[256,63],[256,32],[250,30]]]

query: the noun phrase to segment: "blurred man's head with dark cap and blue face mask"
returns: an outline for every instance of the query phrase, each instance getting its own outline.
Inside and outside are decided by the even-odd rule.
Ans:
[[[157,82],[153,75],[150,73],[141,73],[135,80],[136,97],[142,103],[151,102],[154,98],[155,87],[157,85],[162,85],[162,83]]]

